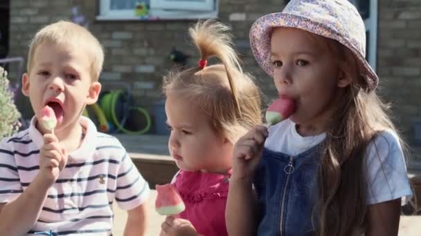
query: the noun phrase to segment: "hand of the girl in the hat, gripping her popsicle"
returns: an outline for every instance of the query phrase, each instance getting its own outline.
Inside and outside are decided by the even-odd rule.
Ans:
[[[265,126],[256,126],[238,139],[233,150],[233,176],[231,179],[251,177],[262,156],[267,135]]]

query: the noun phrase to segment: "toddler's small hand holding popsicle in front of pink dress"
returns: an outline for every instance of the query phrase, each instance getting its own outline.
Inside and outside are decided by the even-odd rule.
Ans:
[[[187,219],[174,218],[168,216],[161,224],[160,236],[198,236],[199,233]]]

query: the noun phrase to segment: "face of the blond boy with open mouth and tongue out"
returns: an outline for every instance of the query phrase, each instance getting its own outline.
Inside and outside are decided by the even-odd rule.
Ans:
[[[57,118],[55,130],[72,127],[85,104],[95,103],[100,92],[100,83],[91,79],[91,58],[83,48],[44,42],[32,61],[22,77],[22,92],[30,98],[35,115],[39,118],[39,110],[48,105]]]

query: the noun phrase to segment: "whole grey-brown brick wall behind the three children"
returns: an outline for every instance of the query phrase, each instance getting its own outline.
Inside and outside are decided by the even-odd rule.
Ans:
[[[257,66],[249,48],[249,28],[263,14],[281,10],[280,0],[220,1],[220,19],[234,29],[235,45],[245,68],[258,78],[267,97],[276,91],[271,79]],[[134,92],[136,104],[152,112],[161,97],[161,75],[172,67],[168,55],[172,47],[192,55],[195,49],[187,43],[187,28],[195,21],[96,21],[98,1],[11,1],[10,52],[26,57],[28,42],[46,23],[71,19],[71,8],[79,6],[89,21],[89,29],[100,39],[106,59],[102,82],[125,81]],[[393,101],[393,112],[399,128],[412,143],[413,127],[421,121],[421,1],[379,1],[379,35],[377,70],[381,77],[380,93]],[[28,107],[28,102],[21,102]],[[26,108],[26,110],[29,110]],[[24,114],[29,115],[26,111]]]

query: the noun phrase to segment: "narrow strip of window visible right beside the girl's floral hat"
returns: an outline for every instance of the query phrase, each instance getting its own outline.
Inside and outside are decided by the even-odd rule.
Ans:
[[[366,59],[376,70],[377,62],[377,6],[378,0],[350,0],[366,25]]]

